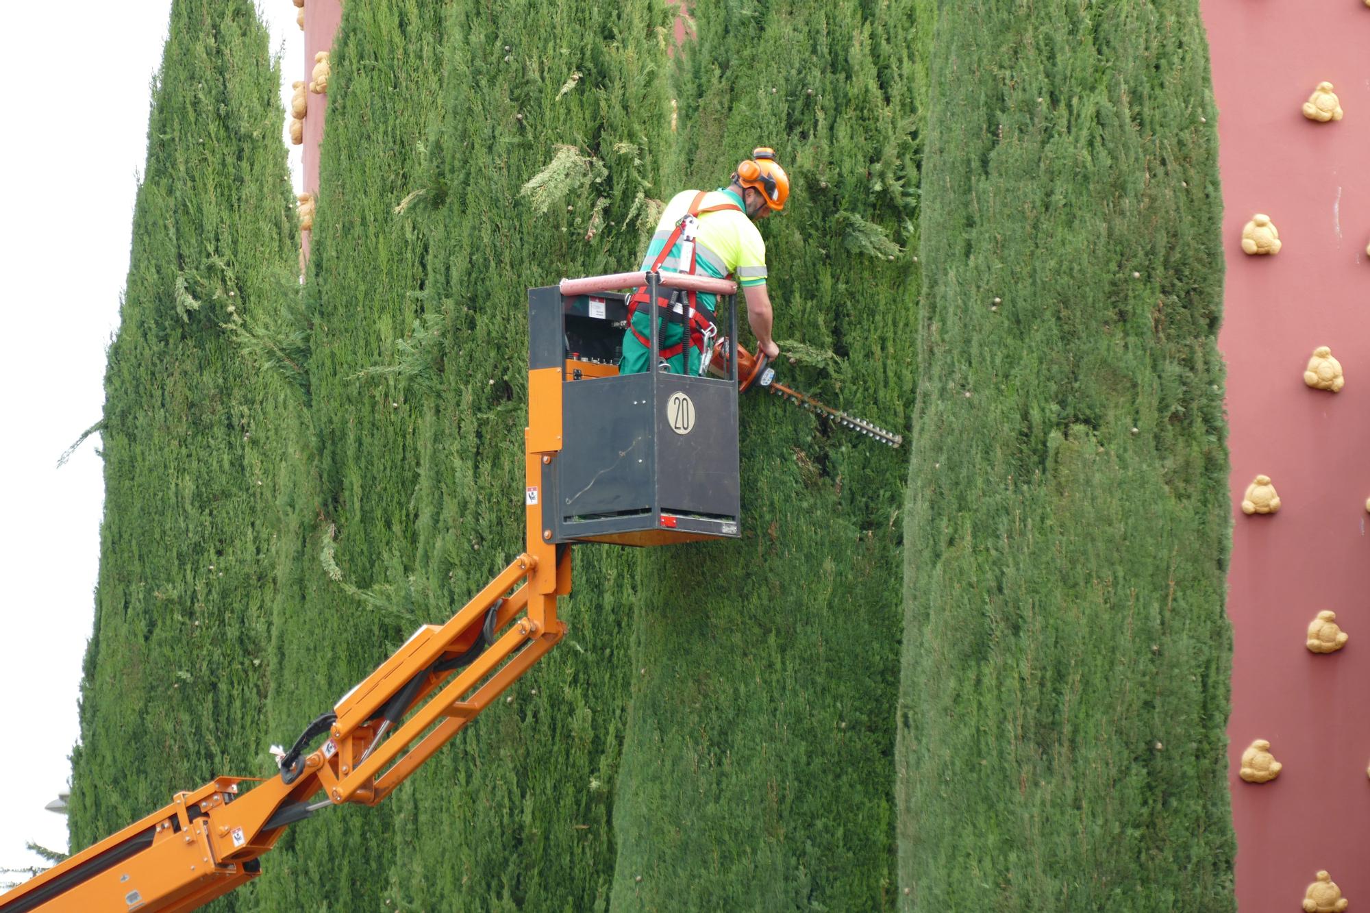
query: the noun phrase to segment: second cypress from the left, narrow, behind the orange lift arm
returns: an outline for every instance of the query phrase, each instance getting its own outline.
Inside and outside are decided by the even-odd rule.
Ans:
[[[282,483],[271,739],[289,744],[412,628],[416,404],[377,372],[418,314],[426,243],[395,207],[438,111],[445,8],[348,3],[334,37],[304,289],[308,414]],[[327,809],[263,862],[263,909],[384,909],[388,805]]]

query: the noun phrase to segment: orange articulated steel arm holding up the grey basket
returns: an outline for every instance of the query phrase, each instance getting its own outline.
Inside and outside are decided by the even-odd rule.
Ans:
[[[585,287],[610,291],[644,280],[643,273],[622,273],[563,280],[562,287],[563,292]],[[733,282],[721,280],[663,280],[663,285],[736,292]],[[589,363],[584,367],[603,370]],[[562,450],[564,370],[529,370],[529,421],[523,429],[529,492],[540,491],[543,466]],[[258,857],[275,846],[289,824],[332,805],[375,805],[393,792],[566,633],[556,617],[556,599],[571,591],[571,548],[562,546],[559,555],[551,541],[552,532],[543,525],[543,498],[525,500],[523,554],[445,624],[419,628],[338,701],[329,738],[304,757],[304,772],[296,780],[218,777],[199,790],[177,792],[167,806],[0,897],[0,913],[195,910],[256,877]],[[492,609],[496,637],[485,651],[462,669],[434,672],[436,664],[477,643]],[[425,674],[400,716],[403,722],[378,732],[375,720],[382,709]],[[240,792],[242,783],[255,786]],[[321,792],[325,798],[306,813],[282,820]]]

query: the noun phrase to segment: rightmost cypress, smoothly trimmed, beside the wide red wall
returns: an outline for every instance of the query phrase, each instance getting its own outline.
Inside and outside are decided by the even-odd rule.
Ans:
[[[933,47],[903,905],[1232,910],[1199,4],[971,0]]]

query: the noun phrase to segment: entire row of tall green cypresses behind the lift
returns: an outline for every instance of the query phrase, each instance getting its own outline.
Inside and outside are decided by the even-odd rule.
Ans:
[[[522,550],[525,289],[773,145],[781,377],[907,450],[749,393],[740,541],[578,547],[562,646],[234,905],[1230,909],[1197,4],[699,0],[673,73],[662,0],[529,5],[345,4],[299,288],[264,30],[175,0],[74,847],[267,773]]]

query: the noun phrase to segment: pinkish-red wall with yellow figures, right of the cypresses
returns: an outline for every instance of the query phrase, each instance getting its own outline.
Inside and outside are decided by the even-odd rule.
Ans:
[[[1218,97],[1228,273],[1219,347],[1228,362],[1236,635],[1229,784],[1243,910],[1297,910],[1318,869],[1370,905],[1370,8],[1362,0],[1201,0]],[[1319,81],[1345,117],[1300,112]],[[1241,252],[1266,212],[1275,256]],[[1304,385],[1318,345],[1345,370],[1338,393]],[[1278,514],[1240,503],[1258,473]],[[1340,651],[1304,647],[1337,613]],[[1266,784],[1237,776],[1269,739],[1284,764]]]

